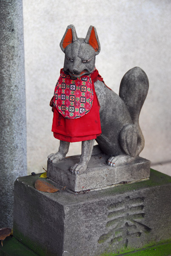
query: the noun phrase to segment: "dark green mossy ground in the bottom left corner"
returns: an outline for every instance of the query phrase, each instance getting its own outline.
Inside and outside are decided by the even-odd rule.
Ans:
[[[3,241],[3,247],[0,246],[0,256],[38,256],[38,254],[9,236]]]

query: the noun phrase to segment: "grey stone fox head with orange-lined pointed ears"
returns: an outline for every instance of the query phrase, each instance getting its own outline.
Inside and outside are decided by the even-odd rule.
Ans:
[[[100,52],[96,28],[90,26],[84,38],[77,38],[74,25],[69,25],[60,42],[65,52],[64,71],[72,77],[81,77],[94,71],[95,56]]]

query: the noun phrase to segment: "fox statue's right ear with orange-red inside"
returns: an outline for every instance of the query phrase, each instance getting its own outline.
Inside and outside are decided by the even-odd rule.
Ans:
[[[89,27],[86,38],[85,38],[85,43],[90,44],[94,48],[96,55],[99,54],[100,42],[99,42],[96,28],[94,26]]]

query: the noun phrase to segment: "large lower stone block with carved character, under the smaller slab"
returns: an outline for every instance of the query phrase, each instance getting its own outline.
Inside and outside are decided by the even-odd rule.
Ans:
[[[14,237],[40,256],[111,256],[171,239],[171,177],[73,194],[37,191],[39,175],[14,185]]]

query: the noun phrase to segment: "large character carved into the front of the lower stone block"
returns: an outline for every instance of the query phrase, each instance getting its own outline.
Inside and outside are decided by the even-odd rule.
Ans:
[[[145,218],[145,198],[125,197],[108,206],[108,221],[106,227],[108,232],[100,236],[98,243],[109,244],[122,241],[124,247],[128,246],[131,237],[140,237],[142,233],[149,233],[151,228],[142,224]]]

